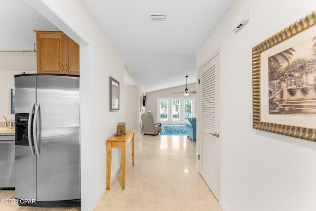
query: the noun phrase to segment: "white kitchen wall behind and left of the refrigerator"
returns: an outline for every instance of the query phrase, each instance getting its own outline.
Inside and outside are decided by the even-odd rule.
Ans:
[[[25,52],[24,56],[23,52],[0,52],[0,114],[7,120],[14,120],[14,114],[11,114],[14,75],[22,74],[23,70],[26,74],[36,73],[36,65],[36,52]],[[0,117],[0,121],[3,120]]]

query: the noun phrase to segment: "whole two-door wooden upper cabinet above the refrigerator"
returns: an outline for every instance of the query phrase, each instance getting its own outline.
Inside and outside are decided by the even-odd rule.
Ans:
[[[38,73],[79,75],[79,44],[63,32],[35,32]]]

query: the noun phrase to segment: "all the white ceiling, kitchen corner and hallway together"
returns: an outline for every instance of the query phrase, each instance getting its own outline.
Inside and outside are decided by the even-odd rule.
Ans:
[[[82,2],[150,92],[185,85],[185,76],[196,82],[196,53],[234,0]],[[166,21],[151,21],[150,14],[166,14]],[[0,26],[0,49],[34,49],[33,30],[59,30],[24,0],[0,0]]]

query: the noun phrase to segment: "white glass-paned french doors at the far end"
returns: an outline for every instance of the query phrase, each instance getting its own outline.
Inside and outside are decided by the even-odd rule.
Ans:
[[[194,98],[158,97],[158,122],[161,124],[184,124],[194,117]]]

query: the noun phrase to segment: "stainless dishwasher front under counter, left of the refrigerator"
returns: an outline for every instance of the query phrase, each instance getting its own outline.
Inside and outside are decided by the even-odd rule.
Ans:
[[[14,135],[0,135],[0,190],[15,187],[14,139]]]

